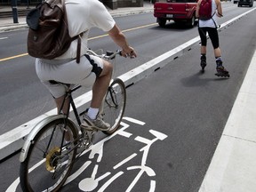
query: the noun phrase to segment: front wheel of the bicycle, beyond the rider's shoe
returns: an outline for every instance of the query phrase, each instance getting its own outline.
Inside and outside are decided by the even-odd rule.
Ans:
[[[124,116],[126,104],[126,90],[124,82],[116,78],[108,87],[108,92],[104,102],[105,122],[110,124],[110,129],[104,131],[105,134],[113,134],[119,128],[121,120]]]

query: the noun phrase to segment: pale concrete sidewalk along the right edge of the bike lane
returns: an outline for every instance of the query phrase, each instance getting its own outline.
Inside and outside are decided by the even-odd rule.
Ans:
[[[255,192],[256,51],[199,192]]]

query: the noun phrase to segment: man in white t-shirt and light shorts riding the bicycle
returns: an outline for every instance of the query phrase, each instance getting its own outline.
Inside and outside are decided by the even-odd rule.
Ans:
[[[92,101],[88,112],[83,116],[82,128],[90,125],[101,131],[107,131],[110,125],[98,116],[101,101],[108,90],[112,75],[112,65],[107,60],[86,54],[89,29],[96,27],[108,32],[113,41],[122,48],[122,56],[136,57],[134,49],[127,43],[124,34],[116,26],[106,7],[99,0],[65,0],[70,36],[81,37],[80,63],[76,63],[76,44],[73,41],[68,51],[54,60],[36,59],[36,74],[51,92],[58,111],[64,100],[64,84],[92,85]],[[64,84],[60,84],[64,83]],[[63,113],[67,113],[66,100]]]

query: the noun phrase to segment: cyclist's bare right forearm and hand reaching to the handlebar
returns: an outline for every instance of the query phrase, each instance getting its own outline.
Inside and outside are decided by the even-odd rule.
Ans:
[[[116,26],[116,24],[113,28],[111,28],[108,31],[108,36],[110,36],[113,39],[113,41],[122,48],[122,56],[124,56],[124,57],[127,57],[127,56],[136,57],[137,56],[136,52],[133,50],[133,48],[131,46],[129,46],[124,34]]]

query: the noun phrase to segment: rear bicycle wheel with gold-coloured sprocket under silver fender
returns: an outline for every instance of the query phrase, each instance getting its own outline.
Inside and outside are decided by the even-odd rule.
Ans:
[[[68,132],[69,141],[63,140],[64,129]],[[29,192],[60,190],[75,162],[76,141],[76,127],[66,118],[56,119],[44,125],[31,140],[28,156],[20,164],[22,190]]]

